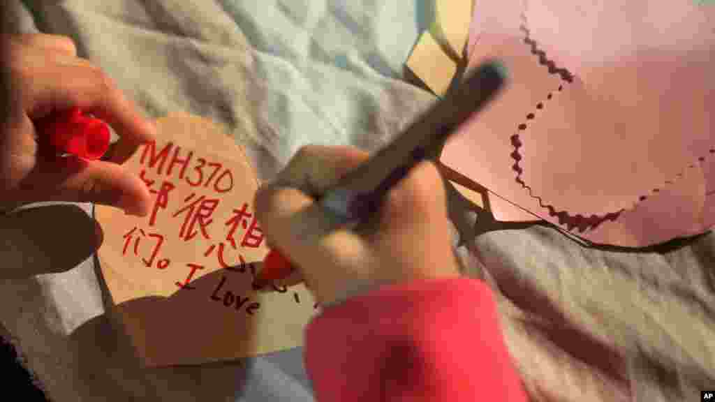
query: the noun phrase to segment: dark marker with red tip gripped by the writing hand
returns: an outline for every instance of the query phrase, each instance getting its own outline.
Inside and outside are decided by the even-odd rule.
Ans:
[[[387,147],[342,177],[336,187],[317,189],[317,202],[344,223],[358,222],[374,214],[390,188],[410,169],[428,159],[428,152],[440,149],[460,124],[493,99],[506,78],[506,68],[500,62],[485,62]],[[287,258],[271,250],[257,282],[285,279],[294,269]]]

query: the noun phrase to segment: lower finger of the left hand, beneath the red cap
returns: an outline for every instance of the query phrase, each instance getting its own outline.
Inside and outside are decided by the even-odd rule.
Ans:
[[[42,160],[18,193],[22,202],[96,202],[137,216],[147,215],[152,205],[147,186],[126,167],[77,157]]]

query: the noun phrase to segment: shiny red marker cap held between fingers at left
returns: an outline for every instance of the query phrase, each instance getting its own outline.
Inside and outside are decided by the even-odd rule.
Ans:
[[[57,152],[97,160],[109,149],[107,124],[83,114],[79,107],[56,114],[47,122],[44,131]]]

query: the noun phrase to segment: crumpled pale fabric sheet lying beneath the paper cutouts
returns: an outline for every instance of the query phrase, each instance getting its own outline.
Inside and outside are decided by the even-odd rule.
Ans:
[[[16,30],[71,36],[150,116],[214,119],[262,180],[310,142],[376,149],[435,100],[401,79],[429,19],[420,1],[9,4]],[[91,250],[26,241],[50,215],[89,237],[91,213],[34,205],[2,225],[0,320],[53,401],[312,400],[300,348],[142,368]],[[715,388],[714,235],[636,253],[586,249],[535,225],[458,251],[465,273],[498,295],[534,401],[689,401]]]

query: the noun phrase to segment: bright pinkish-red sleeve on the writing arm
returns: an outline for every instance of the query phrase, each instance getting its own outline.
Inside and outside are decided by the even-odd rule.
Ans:
[[[317,402],[527,400],[479,280],[385,286],[326,308],[305,336]]]

